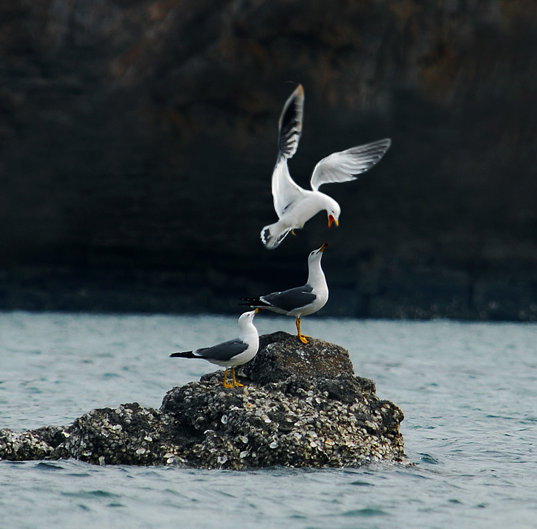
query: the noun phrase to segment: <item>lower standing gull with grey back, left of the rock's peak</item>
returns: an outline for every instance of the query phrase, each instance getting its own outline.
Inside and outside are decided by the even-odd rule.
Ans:
[[[238,338],[213,345],[213,347],[202,347],[202,349],[196,349],[195,351],[173,353],[170,356],[179,358],[203,358],[211,362],[211,364],[221,365],[226,368],[224,373],[224,387],[233,388],[235,385],[243,387],[244,384],[237,382],[235,379],[235,366],[249,362],[257,354],[257,350],[259,349],[259,335],[254,326],[254,316],[258,311],[259,309],[256,309],[255,311],[245,312],[239,316],[238,326],[240,327],[240,333]],[[232,384],[227,383],[229,367],[231,367],[231,373],[233,374]]]

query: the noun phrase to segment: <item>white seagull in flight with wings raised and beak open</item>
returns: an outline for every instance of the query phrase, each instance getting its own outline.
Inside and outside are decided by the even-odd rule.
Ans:
[[[364,173],[377,164],[391,144],[391,139],[381,139],[328,155],[313,169],[310,180],[312,191],[303,189],[292,180],[287,165],[288,159],[297,152],[299,145],[303,106],[304,89],[302,85],[298,85],[285,102],[279,120],[280,152],[272,173],[272,197],[279,220],[261,230],[261,241],[269,250],[274,250],[289,232],[303,227],[312,216],[323,209],[328,214],[328,227],[331,227],[332,223],[337,226],[341,213],[340,205],[333,198],[321,193],[319,187],[331,182],[356,180],[355,175]]]

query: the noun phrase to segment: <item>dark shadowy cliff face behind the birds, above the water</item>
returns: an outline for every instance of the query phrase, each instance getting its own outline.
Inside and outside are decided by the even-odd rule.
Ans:
[[[330,240],[326,313],[533,318],[536,21],[531,0],[3,2],[2,305],[229,310]],[[299,184],[393,144],[323,189],[340,227],[267,252],[285,80],[306,90]]]

